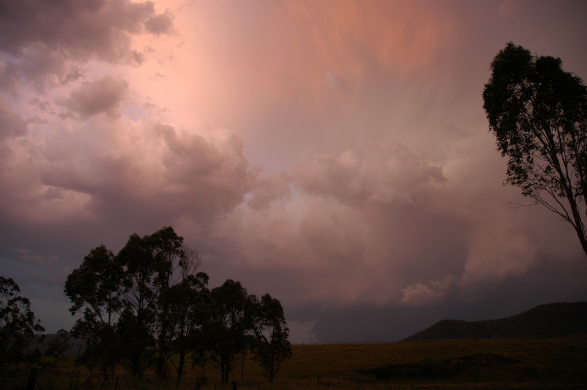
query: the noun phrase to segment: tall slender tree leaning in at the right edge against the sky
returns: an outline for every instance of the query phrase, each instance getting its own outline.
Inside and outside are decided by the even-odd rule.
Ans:
[[[587,255],[587,88],[550,56],[508,43],[483,91],[506,183],[575,229]]]

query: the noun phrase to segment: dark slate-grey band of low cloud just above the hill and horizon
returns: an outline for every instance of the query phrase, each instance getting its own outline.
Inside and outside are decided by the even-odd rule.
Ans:
[[[318,342],[399,341],[441,320],[492,320],[510,317],[541,304],[584,300],[587,289],[580,281],[586,271],[584,261],[564,267],[546,262],[524,276],[486,285],[475,294],[463,296],[451,291],[446,299],[426,306],[311,304],[289,308],[286,317],[302,323],[313,321],[310,335]]]

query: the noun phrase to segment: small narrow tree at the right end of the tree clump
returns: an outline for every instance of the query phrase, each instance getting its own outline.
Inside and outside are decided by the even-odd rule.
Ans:
[[[281,302],[269,294],[262,296],[257,321],[256,338],[252,345],[254,359],[265,371],[269,382],[273,383],[275,374],[292,356],[289,329]]]

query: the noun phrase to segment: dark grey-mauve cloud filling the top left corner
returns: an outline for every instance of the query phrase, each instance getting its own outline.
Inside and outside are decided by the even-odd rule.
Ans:
[[[157,15],[150,1],[3,1],[0,89],[16,96],[24,82],[44,93],[80,79],[93,59],[140,65],[146,56],[134,38],[172,30],[170,13]]]

